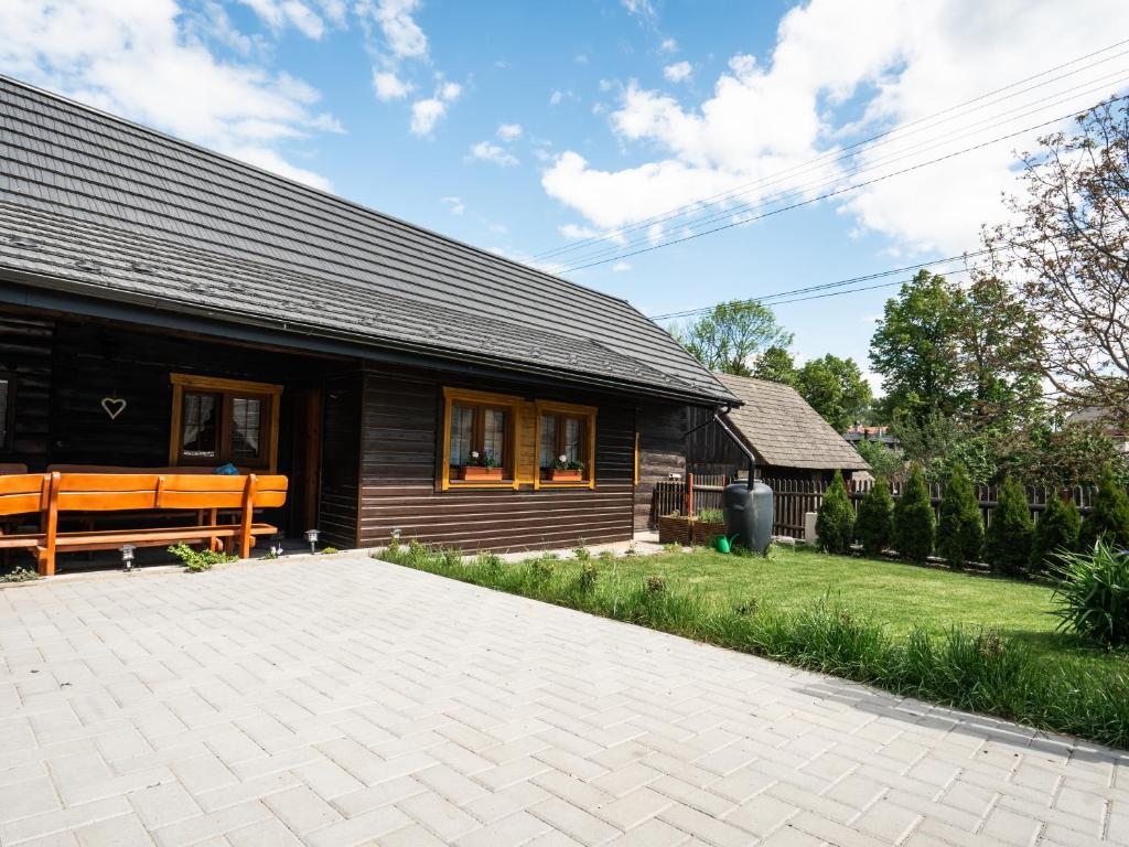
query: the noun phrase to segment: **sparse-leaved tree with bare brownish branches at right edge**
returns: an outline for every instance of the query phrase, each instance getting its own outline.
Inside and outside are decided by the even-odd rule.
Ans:
[[[986,229],[989,267],[1009,280],[1036,332],[1034,365],[1057,392],[1129,421],[1129,106],[1110,99],[1074,134],[1040,139],[1023,157],[1026,193],[1015,222]]]

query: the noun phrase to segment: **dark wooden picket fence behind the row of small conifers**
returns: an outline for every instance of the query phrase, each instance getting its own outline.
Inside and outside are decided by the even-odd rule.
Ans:
[[[685,480],[668,480],[657,483],[651,498],[651,524],[658,524],[659,515],[674,513],[694,515],[702,509],[721,508],[721,490],[729,481],[729,478],[723,474],[690,473],[686,474]],[[772,489],[772,534],[790,535],[795,539],[803,538],[804,515],[820,508],[823,492],[830,483],[791,479],[764,479],[761,481]],[[872,488],[874,488],[872,481],[848,483],[851,505],[856,512],[858,512],[858,504],[870,492]],[[1031,509],[1032,517],[1038,521],[1043,509],[1047,508],[1047,498],[1054,496],[1054,492],[1047,488],[1034,487],[1029,487],[1026,492],[1027,508]],[[1070,489],[1074,504],[1083,515],[1086,515],[1093,507],[1095,492],[1096,488],[1088,486],[1076,486]],[[902,486],[891,482],[890,494],[896,500],[902,495]],[[929,483],[929,498],[938,516],[942,494],[940,483]],[[984,526],[989,526],[991,512],[996,507],[999,495],[999,486],[977,486],[975,494]]]

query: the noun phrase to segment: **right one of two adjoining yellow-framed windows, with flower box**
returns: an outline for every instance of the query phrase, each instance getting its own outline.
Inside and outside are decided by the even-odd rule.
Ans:
[[[596,409],[537,401],[534,488],[595,488]]]

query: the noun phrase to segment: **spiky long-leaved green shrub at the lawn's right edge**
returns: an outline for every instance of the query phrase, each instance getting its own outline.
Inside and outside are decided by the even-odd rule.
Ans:
[[[1100,540],[1088,552],[1059,555],[1054,575],[1059,629],[1104,644],[1129,643],[1129,555]]]

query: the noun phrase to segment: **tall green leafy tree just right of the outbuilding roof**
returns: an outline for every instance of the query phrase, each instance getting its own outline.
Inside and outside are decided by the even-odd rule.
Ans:
[[[944,277],[918,271],[886,300],[870,339],[870,364],[882,374],[890,419],[952,416],[963,405],[956,329],[960,292]]]

